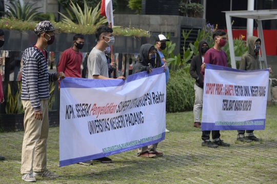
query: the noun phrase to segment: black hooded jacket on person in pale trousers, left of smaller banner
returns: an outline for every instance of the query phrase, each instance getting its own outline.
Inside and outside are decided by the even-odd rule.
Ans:
[[[201,65],[202,63],[202,45],[207,44],[206,40],[201,40],[199,42],[198,50],[199,50],[199,55],[195,55],[190,63],[190,70],[189,73],[190,75],[195,79],[195,85],[203,88],[204,83],[203,83],[203,75],[200,73],[201,70]],[[209,45],[208,45],[209,47]],[[205,58],[204,58],[205,61]]]

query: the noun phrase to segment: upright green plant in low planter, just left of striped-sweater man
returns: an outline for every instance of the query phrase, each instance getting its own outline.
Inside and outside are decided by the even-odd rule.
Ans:
[[[22,86],[21,81],[17,81],[17,90],[14,95],[11,93],[11,86],[8,84],[8,93],[6,97],[6,113],[7,114],[21,114],[24,113],[21,100]]]

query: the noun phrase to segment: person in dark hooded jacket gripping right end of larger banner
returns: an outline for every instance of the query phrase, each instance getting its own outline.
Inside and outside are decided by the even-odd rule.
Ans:
[[[143,72],[143,71],[147,71],[148,73],[150,73],[153,68],[161,67],[161,57],[159,53],[157,53],[153,45],[151,44],[142,45],[140,53],[141,53],[141,60],[134,65],[132,74]],[[167,70],[166,65],[163,65],[163,67],[165,68],[164,71],[166,71]],[[163,156],[164,153],[156,151],[157,145],[158,143],[154,145],[138,148],[137,156],[141,156],[141,157]]]

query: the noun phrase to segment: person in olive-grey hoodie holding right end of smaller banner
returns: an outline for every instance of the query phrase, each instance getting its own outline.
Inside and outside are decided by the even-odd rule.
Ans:
[[[240,63],[240,70],[260,70],[261,67],[259,66],[259,51],[261,47],[261,39],[256,36],[249,36],[247,39],[248,43],[248,51],[247,53],[243,54],[241,63]],[[272,72],[271,68],[268,68],[269,72]],[[238,135],[236,136],[236,140],[242,142],[251,142],[259,141],[262,139],[257,138],[254,136],[254,130],[246,130],[246,136],[244,135],[245,130],[238,130]]]

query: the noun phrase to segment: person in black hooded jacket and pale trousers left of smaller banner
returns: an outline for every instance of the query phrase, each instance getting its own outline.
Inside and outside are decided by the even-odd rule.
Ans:
[[[190,63],[190,75],[195,79],[194,92],[195,92],[195,101],[193,106],[193,116],[194,116],[194,125],[195,128],[201,128],[200,122],[200,111],[203,104],[203,75],[200,73],[201,65],[204,62],[204,55],[209,50],[209,45],[206,40],[201,40],[198,46],[199,55],[196,55],[192,58]]]

